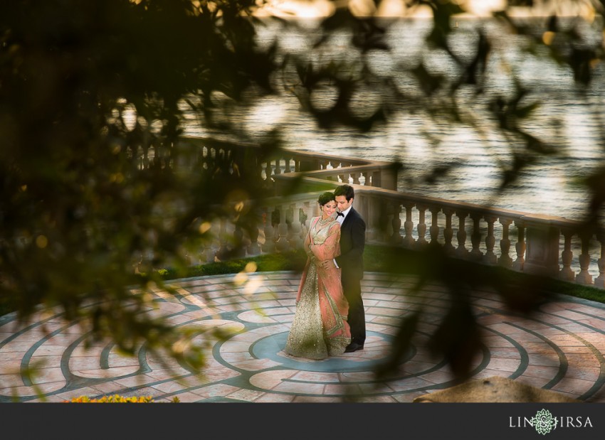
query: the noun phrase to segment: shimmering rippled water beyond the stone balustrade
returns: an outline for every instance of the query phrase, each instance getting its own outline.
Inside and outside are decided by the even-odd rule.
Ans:
[[[239,129],[251,139],[262,139],[270,129],[280,129],[287,149],[401,162],[401,191],[581,220],[588,193],[579,181],[605,165],[605,66],[597,65],[589,87],[577,87],[569,68],[550,60],[544,52],[526,53],[522,49],[527,47],[527,39],[510,36],[493,21],[460,21],[451,36],[453,52],[470,59],[478,28],[490,36],[493,53],[483,94],[475,95],[464,88],[458,92],[461,111],[470,122],[435,121],[426,113],[411,112],[404,106],[371,132],[350,128],[327,132],[318,129],[315,120],[302,112],[290,91],[296,85],[295,78],[285,75],[279,95],[263,97],[252,108],[241,109]],[[431,23],[426,20],[390,22],[386,41],[391,50],[367,53],[369,68],[377,78],[394,75],[397,87],[412,96],[419,96],[419,85],[405,69],[420,60],[433,72],[455,79],[460,72],[449,55],[424,43],[430,29]],[[258,28],[258,43],[263,46],[277,42],[280,53],[315,65],[340,60],[354,70],[362,55],[351,48],[349,34],[336,34],[322,51],[312,48],[317,35],[309,22],[301,22],[298,28],[267,23]],[[601,38],[596,27],[584,23],[583,44],[594,45]],[[524,147],[495,130],[496,122],[485,107],[496,96],[512,97],[510,73],[535,91],[522,103],[539,104],[534,117],[522,127],[556,154],[537,156],[514,183],[498,192],[503,171],[512,166],[512,152]],[[362,90],[356,96],[356,111],[372,112],[382,98],[380,93],[370,88]],[[333,104],[334,98],[329,85],[312,96],[317,107],[325,108]],[[188,134],[209,133],[191,122]],[[427,178],[436,167],[448,172],[429,182]]]

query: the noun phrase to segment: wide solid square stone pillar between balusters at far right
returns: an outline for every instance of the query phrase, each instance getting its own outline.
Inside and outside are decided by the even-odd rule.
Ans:
[[[550,224],[558,217],[529,215],[522,218],[527,230],[527,250],[523,272],[557,277],[559,274],[559,228]],[[532,221],[534,219],[540,222]]]

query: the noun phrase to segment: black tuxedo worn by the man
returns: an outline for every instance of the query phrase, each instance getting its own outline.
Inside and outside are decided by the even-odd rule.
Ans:
[[[364,345],[366,323],[362,301],[361,280],[364,277],[364,246],[366,223],[356,210],[351,208],[340,226],[340,256],[336,264],[341,269],[342,291],[349,301],[349,317],[352,342]]]

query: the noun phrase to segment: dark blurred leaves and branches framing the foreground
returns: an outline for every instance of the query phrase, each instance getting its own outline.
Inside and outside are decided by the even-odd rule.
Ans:
[[[278,56],[278,42],[264,48],[256,43],[250,13],[257,3],[262,1],[0,2],[0,303],[7,309],[26,318],[40,304],[60,306],[68,319],[88,323],[88,343],[111,338],[131,354],[144,343],[202,365],[201,350],[186,344],[189,335],[145,314],[146,301],[153,289],[170,290],[167,279],[208,274],[205,268],[187,274],[186,256],[207,244],[211,222],[228,218],[246,228],[253,210],[244,202],[266,195],[254,178],[257,161],[278,146],[279,136],[272,126],[253,138],[257,133],[246,132],[241,116],[278,90],[292,92],[302,112],[326,131],[345,127],[364,135],[393,117],[418,116],[428,149],[444,141],[431,134],[434,127],[446,134],[471,127],[487,148],[482,123],[488,122],[510,145],[500,162],[502,191],[542,157],[564,156],[556,129],[539,121],[532,127],[540,105],[552,97],[523,81],[522,66],[498,53],[488,27],[468,33],[468,57],[452,50],[453,19],[465,2],[405,2],[431,10],[428,51],[456,66],[453,77],[414,56],[411,65],[394,60],[391,72],[375,72],[374,55],[391,49],[388,26],[373,14],[354,14],[349,2],[321,21],[310,53]],[[605,60],[603,21],[581,14],[563,20],[557,5],[565,2],[545,0],[540,4],[552,6],[544,8],[549,16],[527,23],[508,14],[508,6],[534,2],[496,3],[502,8],[493,14],[498,29],[522,38],[525,54],[567,68],[582,99]],[[582,4],[593,18],[604,11],[602,1],[567,4]],[[279,22],[285,31],[297,26]],[[350,36],[349,47],[332,51],[347,58],[331,59],[332,37],[342,31]],[[500,73],[493,71],[495,59],[505,64]],[[494,74],[506,75],[510,90],[490,87]],[[602,119],[602,105],[592,105]],[[219,155],[203,168],[201,151],[182,142],[191,116],[201,132],[261,139],[257,157]],[[600,119],[596,127],[603,125]],[[427,182],[447,177],[456,163],[438,165]],[[578,176],[589,195],[587,225],[603,207],[604,176],[605,168]],[[416,260],[394,254],[392,261],[381,254],[367,259],[367,269],[378,262],[390,264],[385,272],[417,267],[421,280],[438,277],[448,285],[456,308],[435,347],[450,355],[456,372],[464,370],[461,358],[478,347],[466,302],[478,280],[494,284],[522,311],[559,289],[535,278],[520,282],[511,275],[506,281],[495,268],[478,277],[468,263],[431,252]],[[143,254],[152,254],[149,267],[171,269],[144,268],[133,277]],[[406,322],[401,345],[414,324]]]

